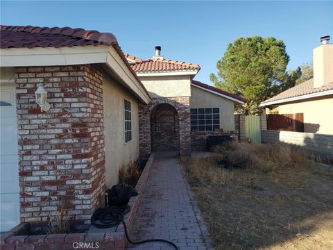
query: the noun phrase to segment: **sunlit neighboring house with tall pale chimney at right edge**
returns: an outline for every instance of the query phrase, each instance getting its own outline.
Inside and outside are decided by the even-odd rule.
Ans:
[[[275,108],[280,114],[303,113],[304,132],[333,135],[333,44],[323,37],[314,49],[314,78],[296,85],[260,106]]]

